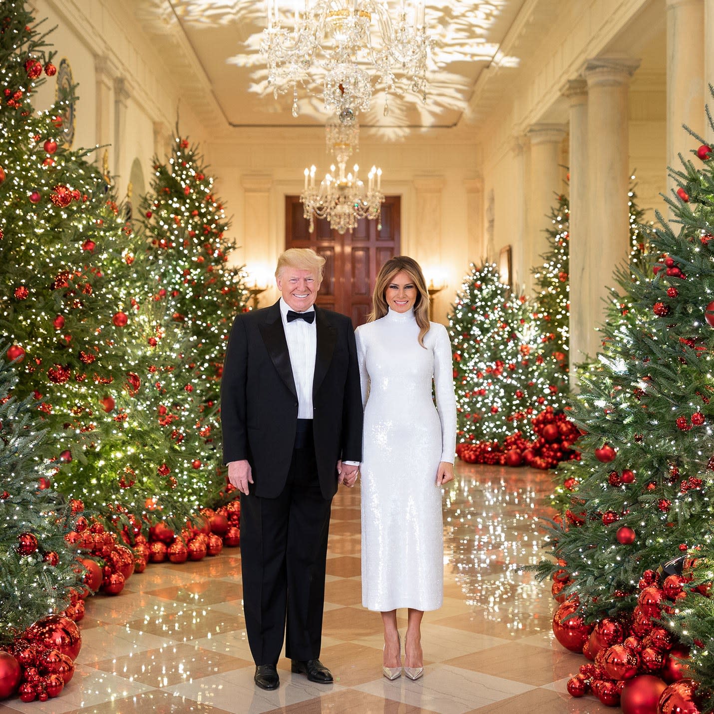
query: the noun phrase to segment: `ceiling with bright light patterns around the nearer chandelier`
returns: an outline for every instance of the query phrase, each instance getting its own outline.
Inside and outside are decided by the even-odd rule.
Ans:
[[[278,0],[286,16],[294,0]],[[396,9],[398,0],[386,0]],[[461,121],[478,77],[486,67],[518,66],[500,46],[526,0],[427,0],[426,24],[435,40],[426,104],[408,93],[389,101],[376,92],[363,127],[387,131],[408,127],[454,127]],[[323,125],[326,114],[319,87],[302,89],[300,116],[291,115],[292,95],[278,96],[267,86],[259,51],[266,26],[265,0],[131,0],[141,29],[172,66],[181,71],[190,101],[211,96],[226,127]],[[193,85],[193,86],[191,86]],[[208,93],[208,94],[207,94]],[[201,99],[201,95],[203,98]],[[200,114],[200,112],[199,112]]]

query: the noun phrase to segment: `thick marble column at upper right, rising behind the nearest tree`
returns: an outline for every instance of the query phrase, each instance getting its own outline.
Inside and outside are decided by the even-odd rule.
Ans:
[[[682,125],[704,133],[705,46],[704,0],[667,0],[667,165],[673,169],[682,166],[678,154],[691,159],[698,147]],[[676,189],[672,179],[667,186]]]

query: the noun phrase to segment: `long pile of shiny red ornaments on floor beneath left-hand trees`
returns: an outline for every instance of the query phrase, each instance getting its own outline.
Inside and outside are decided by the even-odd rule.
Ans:
[[[72,501],[71,507],[75,513],[84,511],[79,500]],[[0,699],[18,695],[24,702],[46,701],[61,693],[74,674],[74,660],[81,648],[76,623],[84,618],[84,600],[89,595],[119,595],[126,580],[148,563],[201,560],[218,555],[223,545],[236,547],[241,540],[238,500],[216,510],[203,509],[201,525],[187,523],[178,536],[159,522],[149,528],[146,537],[141,522],[133,515],[127,517],[131,527],[125,526],[119,535],[80,516],[76,530],[65,536],[79,550],[77,561],[86,571],[84,590],[72,592],[63,613],[39,620],[12,645],[0,649]]]

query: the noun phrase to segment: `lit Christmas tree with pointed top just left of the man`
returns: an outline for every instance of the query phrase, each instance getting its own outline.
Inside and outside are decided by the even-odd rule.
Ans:
[[[143,408],[180,450],[174,478],[181,490],[215,506],[226,485],[216,442],[221,372],[228,333],[236,313],[246,309],[247,292],[241,271],[227,267],[233,249],[225,237],[228,221],[196,147],[176,136],[168,162],[154,159],[154,172],[136,247],[148,276],[136,289],[148,291],[165,327],[151,339],[161,389],[144,395]],[[174,370],[177,352],[166,332],[177,327],[188,341],[178,353],[183,365]]]

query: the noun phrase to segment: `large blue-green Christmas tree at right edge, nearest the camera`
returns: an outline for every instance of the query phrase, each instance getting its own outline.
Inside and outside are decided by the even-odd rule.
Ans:
[[[714,134],[711,118],[710,127]],[[700,597],[685,592],[686,580],[654,585],[660,566],[666,575],[672,561],[710,547],[713,515],[714,166],[712,149],[695,139],[695,158],[671,172],[673,219],[658,214],[651,233],[653,271],[620,272],[636,319],[605,326],[603,370],[583,376],[574,410],[587,432],[580,484],[563,523],[551,524],[555,562],[539,566],[541,577],[568,583],[563,593],[590,622],[634,612],[651,628],[660,605],[676,618],[665,598]]]

